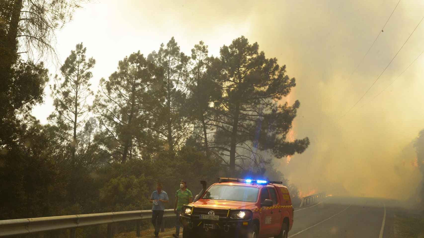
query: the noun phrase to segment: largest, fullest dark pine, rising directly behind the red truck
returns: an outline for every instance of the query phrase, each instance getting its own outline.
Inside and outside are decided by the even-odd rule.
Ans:
[[[309,139],[287,142],[300,103],[292,106],[279,104],[296,86],[286,67],[280,67],[277,59],[265,58],[257,43],[249,44],[242,36],[229,46],[220,49],[220,73],[217,82],[222,85],[221,98],[215,102],[215,148],[229,157],[231,173],[236,160],[251,160],[260,164],[262,153],[267,151],[276,158],[302,153]],[[248,155],[245,155],[245,151]]]

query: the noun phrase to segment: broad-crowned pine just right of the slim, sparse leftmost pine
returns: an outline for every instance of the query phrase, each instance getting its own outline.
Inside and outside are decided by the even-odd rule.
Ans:
[[[139,159],[146,151],[160,150],[153,133],[157,121],[151,119],[160,120],[153,112],[163,101],[162,75],[162,68],[137,52],[120,60],[109,80],[100,80],[94,102],[103,130],[98,140],[114,160],[125,162],[128,154]]]

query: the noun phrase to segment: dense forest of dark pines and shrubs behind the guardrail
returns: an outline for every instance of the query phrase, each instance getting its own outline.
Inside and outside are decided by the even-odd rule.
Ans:
[[[0,3],[0,219],[149,209],[157,181],[170,197],[180,179],[193,193],[221,175],[289,185],[272,159],[302,153],[309,139],[286,140],[300,103],[285,102],[296,81],[276,58],[243,36],[218,57],[202,41],[181,52],[171,38],[115,59],[93,92],[96,61],[83,43],[59,75],[31,60],[55,56],[54,32],[78,2]],[[45,93],[54,112],[41,124],[31,110]]]

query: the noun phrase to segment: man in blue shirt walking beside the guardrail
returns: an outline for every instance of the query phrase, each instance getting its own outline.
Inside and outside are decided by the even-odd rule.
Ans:
[[[155,237],[159,237],[159,228],[162,223],[163,213],[165,211],[165,203],[168,201],[168,194],[162,190],[162,183],[158,183],[157,190],[153,191],[152,195],[150,196],[150,202],[153,203],[152,223],[153,227],[155,227]]]

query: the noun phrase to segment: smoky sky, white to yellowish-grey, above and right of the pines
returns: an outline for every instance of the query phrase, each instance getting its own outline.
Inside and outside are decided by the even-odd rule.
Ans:
[[[352,109],[423,17],[424,2],[401,0],[390,21],[354,74],[351,73],[382,30],[398,0],[362,1],[139,1],[97,0],[83,5],[73,22],[57,33],[62,61],[83,42],[96,59],[92,89],[117,62],[140,50],[147,55],[174,36],[181,50],[202,40],[210,55],[245,36],[266,57],[276,57],[296,78],[285,98],[301,107],[294,138],[309,137],[310,147],[278,169],[302,191],[345,190],[349,194],[403,198],[420,182],[411,142],[424,128],[424,56],[391,83],[423,50],[424,23],[373,88]],[[50,72],[57,72],[51,64]],[[46,94],[50,95],[46,87]],[[42,122],[51,98],[34,109]],[[337,188],[337,189],[336,189]]]

